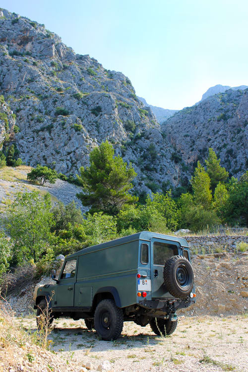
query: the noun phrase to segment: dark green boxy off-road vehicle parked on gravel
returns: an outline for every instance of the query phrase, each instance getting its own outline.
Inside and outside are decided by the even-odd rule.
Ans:
[[[185,239],[148,231],[67,256],[54,285],[36,288],[39,318],[84,319],[103,340],[120,337],[124,321],[148,323],[158,335],[177,327],[177,310],[194,302],[194,277]]]

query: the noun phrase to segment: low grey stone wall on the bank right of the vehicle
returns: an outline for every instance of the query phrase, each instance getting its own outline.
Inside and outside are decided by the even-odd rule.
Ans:
[[[192,253],[213,253],[220,249],[235,252],[237,244],[248,243],[248,236],[244,235],[217,235],[217,236],[185,236]]]

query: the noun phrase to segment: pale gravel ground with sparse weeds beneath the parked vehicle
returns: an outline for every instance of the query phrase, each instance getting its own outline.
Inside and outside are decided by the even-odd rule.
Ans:
[[[23,324],[35,329],[33,318]],[[154,335],[150,326],[125,322],[116,341],[99,341],[84,321],[60,319],[49,336],[51,350],[80,366],[91,363],[96,371],[103,361],[113,371],[248,371],[248,317],[245,315],[179,318],[169,337]],[[200,362],[202,359],[205,362]]]

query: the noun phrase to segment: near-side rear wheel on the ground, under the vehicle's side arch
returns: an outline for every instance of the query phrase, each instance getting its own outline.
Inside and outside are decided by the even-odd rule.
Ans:
[[[116,340],[123,330],[122,309],[113,300],[102,300],[95,310],[94,328],[102,340]]]

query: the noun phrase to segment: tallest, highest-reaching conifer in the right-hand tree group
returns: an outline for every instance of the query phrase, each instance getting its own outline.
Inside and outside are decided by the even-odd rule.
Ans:
[[[224,167],[220,166],[220,159],[217,159],[211,147],[208,149],[208,158],[205,160],[205,163],[207,166],[207,174],[211,180],[211,189],[214,191],[219,182],[227,180],[229,174]]]

